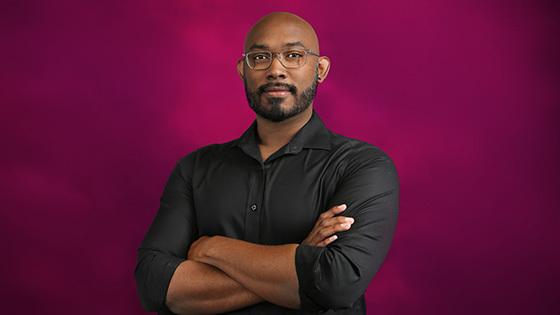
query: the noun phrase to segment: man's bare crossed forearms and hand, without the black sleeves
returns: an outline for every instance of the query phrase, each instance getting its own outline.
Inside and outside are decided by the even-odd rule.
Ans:
[[[335,217],[345,208],[323,213],[302,244],[326,246],[334,241],[329,236],[349,229],[352,218]],[[223,313],[262,301],[299,309],[297,246],[202,236],[190,246],[188,260],[171,278],[167,306],[176,314]]]

